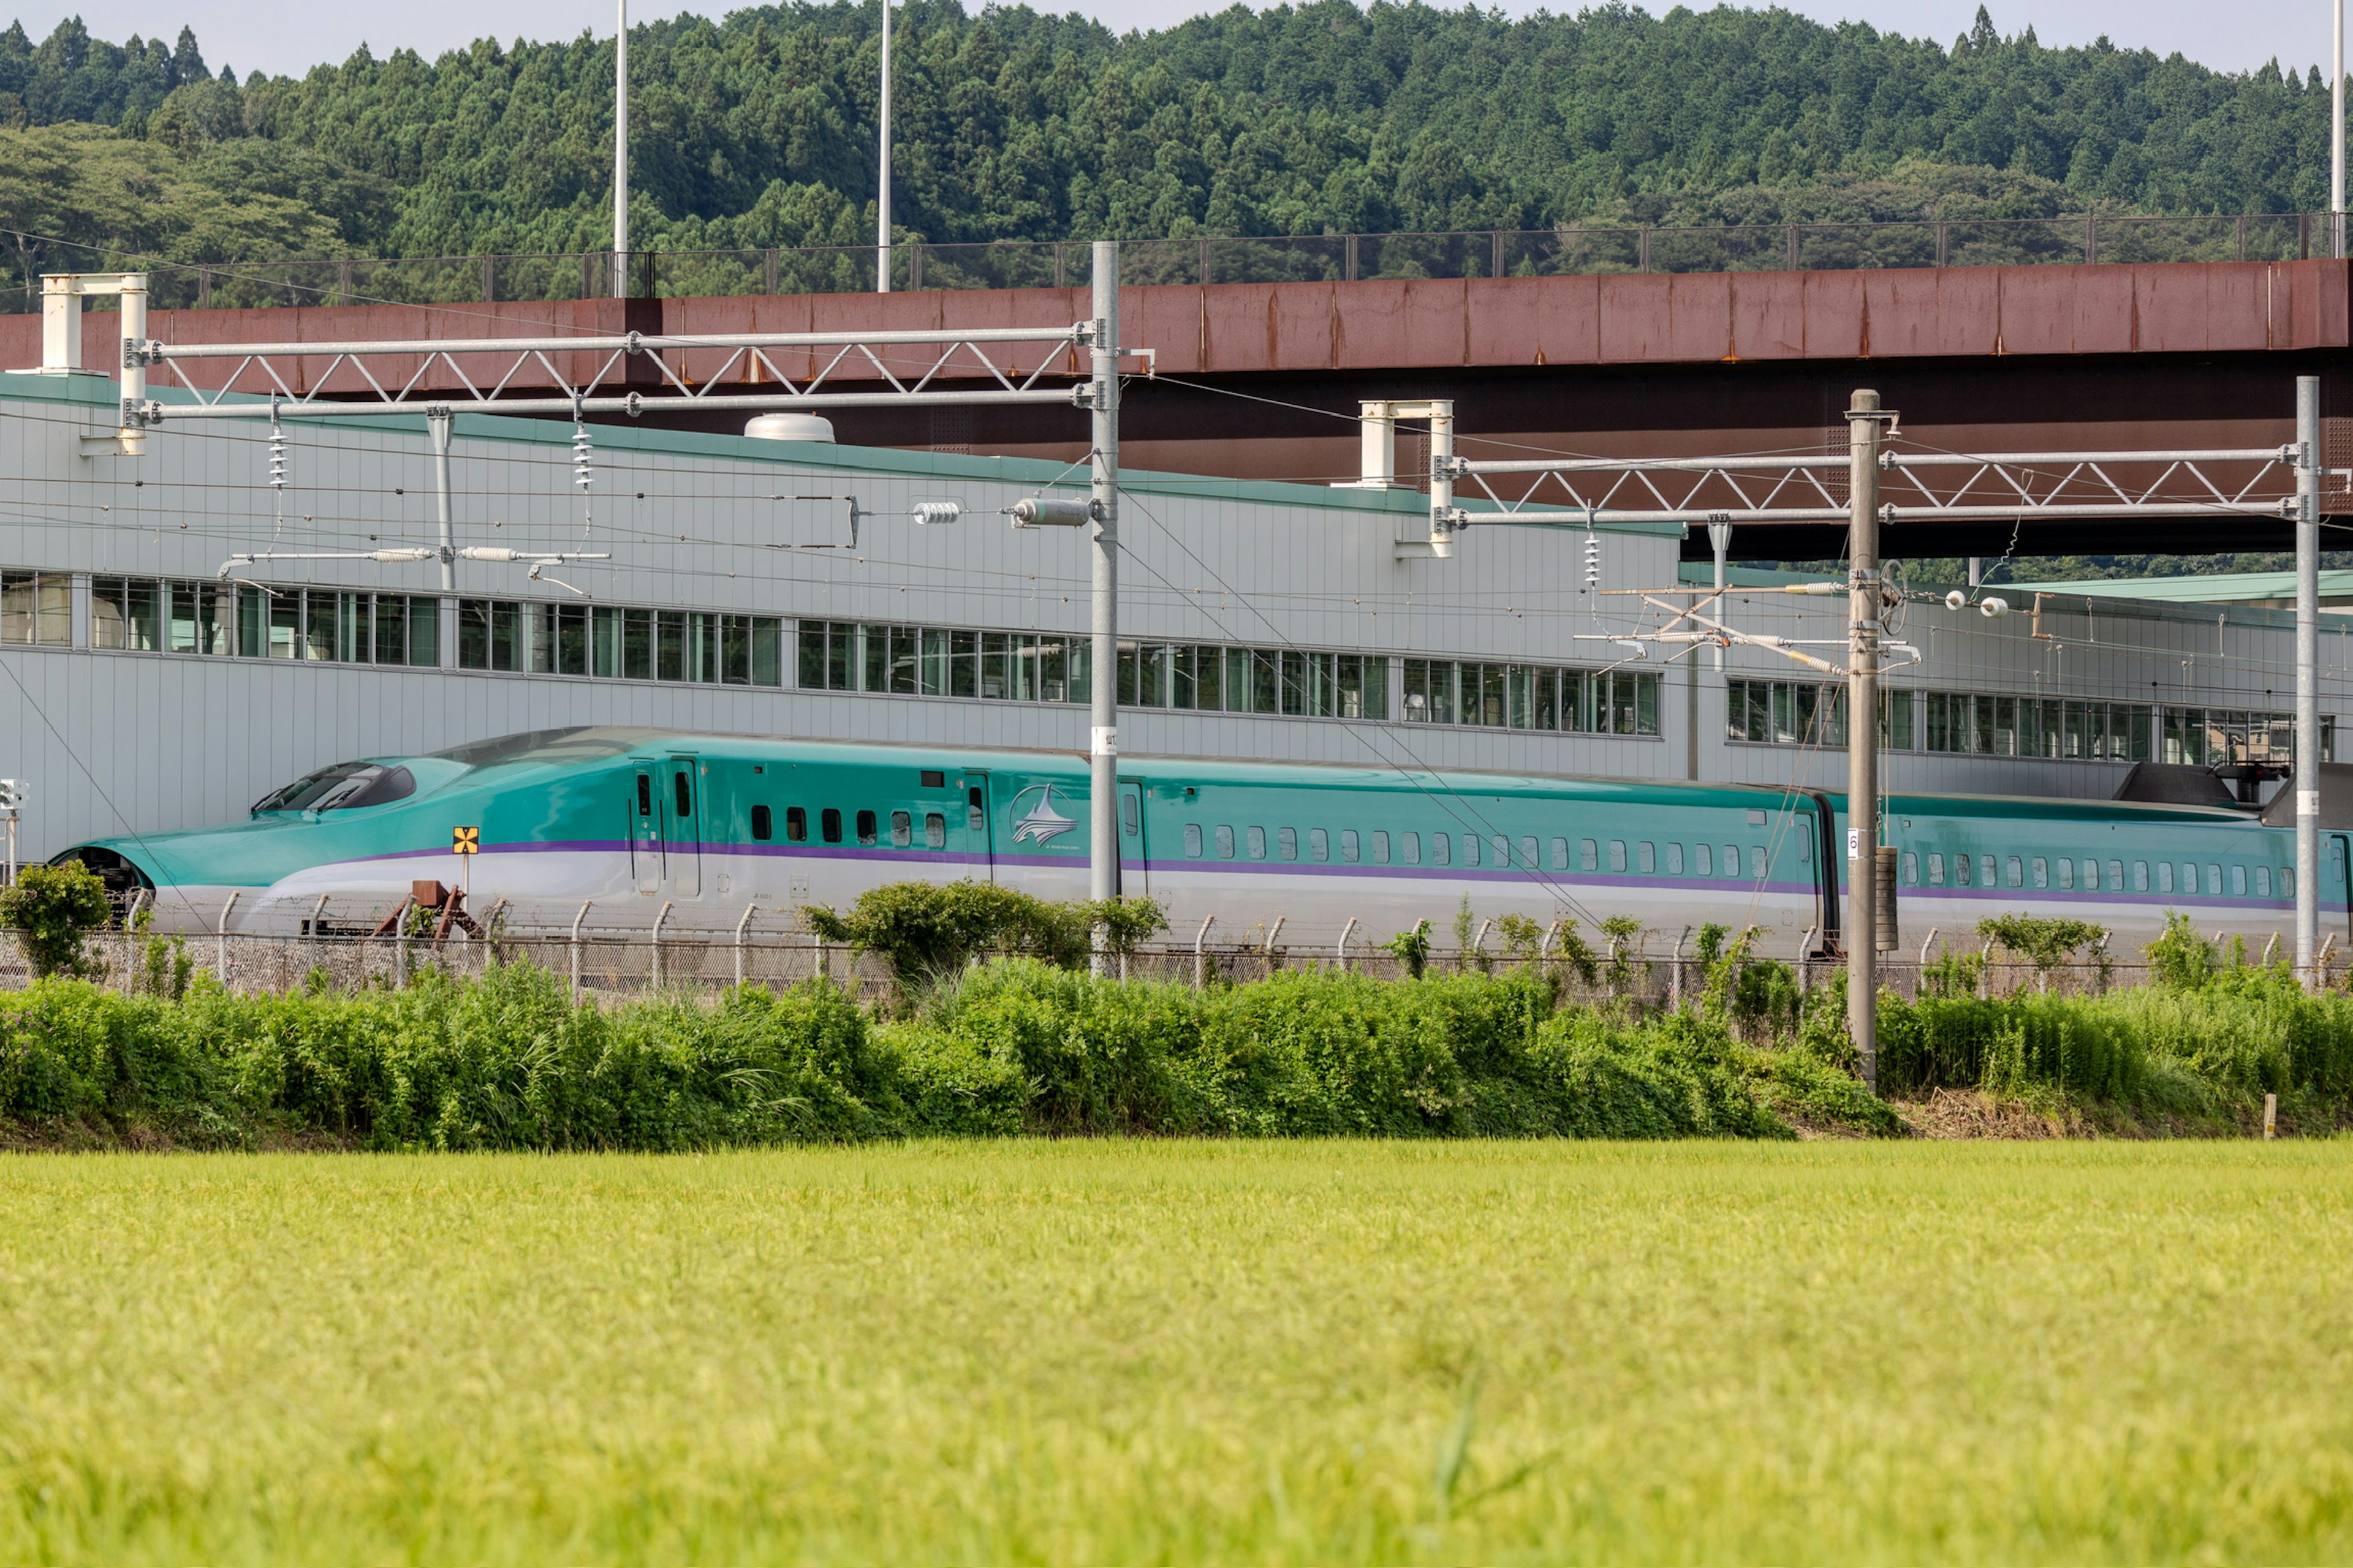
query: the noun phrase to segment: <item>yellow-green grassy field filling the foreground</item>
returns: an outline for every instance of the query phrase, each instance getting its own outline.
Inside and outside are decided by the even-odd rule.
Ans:
[[[2353,1143],[0,1164],[7,1561],[2353,1559]]]

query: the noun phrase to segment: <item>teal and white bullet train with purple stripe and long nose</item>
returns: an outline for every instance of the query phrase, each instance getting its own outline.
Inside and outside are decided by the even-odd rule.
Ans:
[[[522,924],[732,929],[746,905],[845,905],[960,877],[1087,893],[1087,764],[1071,752],[659,729],[548,729],[308,773],[249,820],[68,849],[162,929],[351,931],[412,882],[456,884]],[[1468,893],[1480,917],[1588,926],[1755,924],[1767,950],[1838,940],[1842,795],[1381,766],[1120,762],[1122,891],[1191,936],[1273,929],[1292,947],[1384,940]],[[1904,943],[1986,914],[2078,914],[2146,940],[2167,910],[2261,943],[2294,919],[2294,835],[2217,806],[1894,795]],[[2322,837],[2322,919],[2344,929],[2348,842]],[[325,900],[325,903],[322,903]],[[626,910],[642,910],[628,914]],[[315,926],[313,926],[315,922]],[[1362,947],[1358,947],[1362,950]]]

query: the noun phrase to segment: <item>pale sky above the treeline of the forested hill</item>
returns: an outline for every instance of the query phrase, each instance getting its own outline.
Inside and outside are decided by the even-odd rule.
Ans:
[[[1033,0],[1038,2],[1038,0]],[[1047,0],[1056,2],[1056,0]],[[2280,59],[2299,71],[2322,63],[2329,49],[2329,9],[2315,0],[1988,0],[1993,26],[2014,33],[2028,24],[2047,45],[2089,42],[2106,33],[2120,45],[2181,52],[2207,66],[2242,71]],[[974,7],[974,0],[967,0]],[[572,5],[565,0],[407,0],[398,7],[376,5],[285,5],[280,0],[31,0],[0,16],[24,21],[26,33],[45,38],[61,16],[80,14],[101,38],[129,33],[174,38],[193,24],[205,59],[219,68],[301,73],[315,63],[346,59],[362,42],[376,54],[402,45],[424,54],[459,47],[482,33],[513,38],[572,38],[584,28],[609,33],[612,5]],[[668,16],[682,9],[725,12],[725,5],[675,5],[638,0],[638,19]],[[1073,9],[1104,19],[1115,28],[1167,26],[1212,9],[1209,0],[1080,0]],[[1532,5],[1506,5],[1511,12]],[[1649,0],[1645,9],[1664,9]],[[1795,0],[1793,9],[1821,21],[1857,19],[1885,31],[1929,35],[1951,42],[1969,28],[1977,0]]]

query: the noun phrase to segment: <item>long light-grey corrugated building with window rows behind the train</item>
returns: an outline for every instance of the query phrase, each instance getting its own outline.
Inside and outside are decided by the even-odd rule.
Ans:
[[[1087,543],[998,515],[1082,494],[1082,468],[598,425],[584,491],[569,428],[461,414],[456,545],[609,559],[456,562],[445,590],[438,562],[301,559],[440,543],[424,418],[287,418],[278,489],[266,421],[89,456],[113,395],[0,376],[0,773],[31,788],[26,856],[558,724],[1085,750]],[[1426,531],[1412,491],[1122,484],[1122,752],[1845,778],[1835,698],[1800,665],[1600,642],[1657,616],[1586,592],[1581,531],[1475,527],[1452,562],[1398,559]],[[927,501],[960,522],[918,524]],[[1605,531],[1602,588],[1673,585],[1678,548]],[[238,555],[259,559],[224,576]],[[1889,788],[2104,797],[2134,757],[2285,745],[2285,614],[2028,611],[1904,611],[1922,663],[1892,677]],[[1751,583],[1727,618],[1838,639],[1845,604]],[[2341,632],[2322,656],[2337,715]]]

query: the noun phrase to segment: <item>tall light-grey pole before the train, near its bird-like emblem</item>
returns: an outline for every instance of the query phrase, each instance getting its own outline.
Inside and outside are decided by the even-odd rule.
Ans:
[[[1094,656],[1087,663],[1092,684],[1089,827],[1087,898],[1120,896],[1120,244],[1096,240],[1094,273],[1094,343],[1089,367],[1094,386],[1087,400],[1094,411]],[[1094,966],[1104,964],[1104,933],[1096,931]]]

